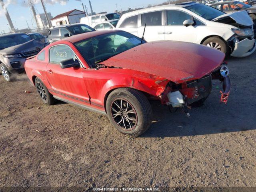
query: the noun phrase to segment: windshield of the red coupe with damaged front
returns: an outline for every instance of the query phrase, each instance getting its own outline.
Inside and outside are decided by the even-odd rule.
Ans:
[[[74,43],[90,67],[140,45],[141,39],[128,32],[113,32]],[[146,41],[142,41],[145,43]]]

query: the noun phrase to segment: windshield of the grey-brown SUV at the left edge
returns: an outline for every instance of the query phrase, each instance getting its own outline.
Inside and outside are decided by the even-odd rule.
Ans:
[[[26,43],[32,38],[26,34],[12,34],[8,36],[0,36],[0,50],[11,46]]]

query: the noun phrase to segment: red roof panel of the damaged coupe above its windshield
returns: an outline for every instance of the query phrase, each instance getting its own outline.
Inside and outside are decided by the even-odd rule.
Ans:
[[[65,38],[64,40],[60,40],[58,42],[62,41],[69,41],[71,43],[75,43],[84,39],[88,39],[88,38],[92,38],[92,37],[96,37],[99,35],[104,35],[104,34],[108,34],[108,33],[113,33],[113,32],[122,32],[122,30],[102,30],[102,31],[92,31],[92,32],[87,32],[87,33],[82,33],[82,34],[78,34],[78,35],[74,35],[68,38]]]

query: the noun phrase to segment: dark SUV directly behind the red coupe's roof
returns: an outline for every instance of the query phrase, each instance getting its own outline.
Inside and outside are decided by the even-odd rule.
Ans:
[[[72,24],[72,25],[62,25],[54,27],[49,30],[48,35],[46,36],[47,42],[53,43],[58,40],[70,37],[72,35],[77,35],[81,33],[87,33],[95,31],[88,25],[85,24]]]

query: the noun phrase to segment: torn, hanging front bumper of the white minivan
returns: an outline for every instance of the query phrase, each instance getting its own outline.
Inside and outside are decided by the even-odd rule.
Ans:
[[[243,39],[241,41],[238,38],[234,38],[234,49],[230,54],[233,57],[246,57],[252,54],[256,50],[256,44],[254,39]]]

